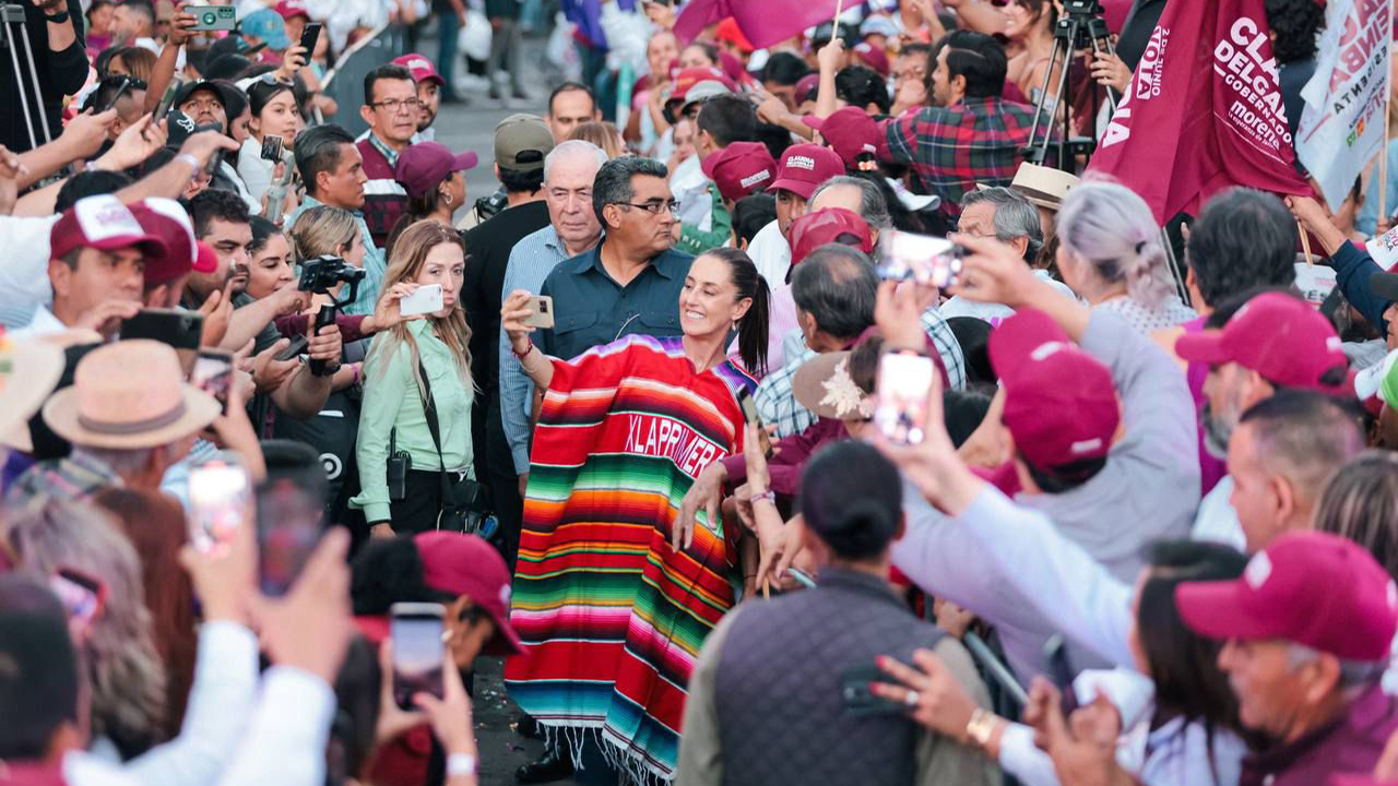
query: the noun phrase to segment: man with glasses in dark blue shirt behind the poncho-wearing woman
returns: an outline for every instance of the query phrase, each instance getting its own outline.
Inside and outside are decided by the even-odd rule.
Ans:
[[[622,336],[679,336],[679,291],[693,257],[672,250],[677,204],[665,166],[624,155],[593,182],[593,210],[605,235],[593,250],[549,273],[541,294],[554,298],[554,327],[540,348],[572,359]]]

